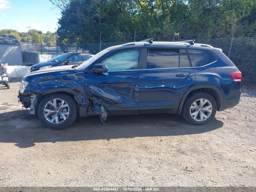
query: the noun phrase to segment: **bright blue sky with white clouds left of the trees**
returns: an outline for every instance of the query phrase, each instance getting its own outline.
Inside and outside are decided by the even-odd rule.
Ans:
[[[43,33],[55,32],[61,13],[54,7],[49,0],[0,0],[0,30],[27,32],[29,26]]]

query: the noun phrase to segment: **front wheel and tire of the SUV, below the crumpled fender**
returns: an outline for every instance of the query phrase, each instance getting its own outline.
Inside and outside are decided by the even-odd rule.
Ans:
[[[62,103],[62,101],[64,102]],[[72,97],[66,94],[49,94],[42,99],[38,106],[38,117],[46,127],[62,130],[75,122],[77,104]]]

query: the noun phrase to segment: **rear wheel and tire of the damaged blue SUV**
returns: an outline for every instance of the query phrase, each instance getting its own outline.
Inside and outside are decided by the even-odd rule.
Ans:
[[[203,105],[201,106],[200,103]],[[186,99],[181,114],[188,123],[204,125],[214,118],[216,110],[216,101],[211,95],[204,92],[197,92],[191,94]]]

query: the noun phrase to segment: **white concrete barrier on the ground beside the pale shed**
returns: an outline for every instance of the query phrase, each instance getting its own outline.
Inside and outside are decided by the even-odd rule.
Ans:
[[[12,76],[12,78],[21,78],[30,73],[30,68],[27,66],[4,66],[4,72]]]

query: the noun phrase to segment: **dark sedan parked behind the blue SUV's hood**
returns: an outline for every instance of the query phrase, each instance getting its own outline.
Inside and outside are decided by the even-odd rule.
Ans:
[[[90,59],[92,56],[94,55],[89,53],[64,53],[46,62],[33,65],[30,68],[30,72],[34,72],[40,69],[47,69],[50,67],[62,66],[62,65],[79,65],[82,62]]]

